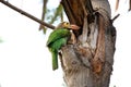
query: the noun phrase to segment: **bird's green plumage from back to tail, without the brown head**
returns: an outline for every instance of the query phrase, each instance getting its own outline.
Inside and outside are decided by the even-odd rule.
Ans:
[[[70,30],[67,28],[55,29],[50,34],[47,41],[47,47],[52,54],[52,70],[58,69],[58,51],[62,46],[67,45],[70,36]]]

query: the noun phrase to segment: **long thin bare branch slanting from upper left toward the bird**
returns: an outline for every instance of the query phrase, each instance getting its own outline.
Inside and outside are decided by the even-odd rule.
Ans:
[[[45,22],[40,21],[39,18],[31,15],[29,13],[27,13],[27,12],[25,12],[25,11],[23,11],[23,10],[16,8],[16,7],[14,7],[14,5],[12,5],[12,4],[9,3],[8,1],[0,0],[0,2],[3,3],[3,4],[7,5],[7,7],[15,10],[16,12],[19,12],[19,13],[21,13],[21,14],[23,14],[23,15],[25,15],[25,16],[34,20],[34,21],[36,21],[37,23],[39,23],[39,24],[41,24],[41,25],[44,25],[44,26],[47,26],[47,27],[49,27],[49,28],[51,28],[51,29],[55,29],[55,26],[53,26],[53,25],[50,25],[50,24],[48,24],[48,23],[45,23]]]

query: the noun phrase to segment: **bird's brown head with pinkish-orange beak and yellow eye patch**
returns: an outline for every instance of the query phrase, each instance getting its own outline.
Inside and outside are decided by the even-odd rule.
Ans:
[[[60,23],[57,28],[80,29],[79,26],[76,26],[74,24],[70,24],[68,22]]]

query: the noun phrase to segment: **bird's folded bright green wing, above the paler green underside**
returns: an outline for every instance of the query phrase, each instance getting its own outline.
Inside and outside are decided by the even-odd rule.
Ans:
[[[66,28],[59,28],[53,30],[47,41],[47,46],[56,41],[57,39],[63,38],[63,37],[69,37],[70,36],[70,30]]]

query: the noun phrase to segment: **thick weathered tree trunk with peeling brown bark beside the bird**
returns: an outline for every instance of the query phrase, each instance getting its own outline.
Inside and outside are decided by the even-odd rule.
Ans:
[[[81,27],[73,32],[76,42],[62,47],[61,65],[68,87],[109,87],[112,72],[116,29],[107,0],[62,0],[70,23]]]

